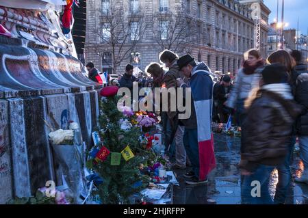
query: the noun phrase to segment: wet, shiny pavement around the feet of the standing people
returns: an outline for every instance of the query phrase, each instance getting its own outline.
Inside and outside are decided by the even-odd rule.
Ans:
[[[207,185],[185,185],[183,174],[190,169],[175,169],[179,186],[173,188],[174,204],[241,204],[240,191],[240,138],[224,134],[214,135],[216,169],[209,174]],[[292,183],[285,204],[308,204],[308,185],[294,182],[303,172],[303,163],[294,152]],[[274,197],[278,182],[277,170],[270,179],[270,194]]]

